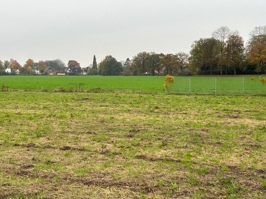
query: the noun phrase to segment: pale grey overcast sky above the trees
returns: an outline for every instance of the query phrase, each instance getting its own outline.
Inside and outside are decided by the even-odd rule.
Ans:
[[[189,52],[225,25],[245,42],[266,25],[266,0],[0,0],[0,60],[118,61]]]

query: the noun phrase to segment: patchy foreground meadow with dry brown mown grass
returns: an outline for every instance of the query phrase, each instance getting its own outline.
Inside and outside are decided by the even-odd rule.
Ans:
[[[266,198],[265,96],[0,98],[1,199]]]

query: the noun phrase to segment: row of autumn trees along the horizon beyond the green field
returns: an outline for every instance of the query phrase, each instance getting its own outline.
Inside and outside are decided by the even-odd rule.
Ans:
[[[21,69],[22,74],[30,74],[33,67],[42,72],[48,66],[61,73],[67,66],[80,68],[75,60],[70,60],[66,66],[59,59],[38,63],[28,59],[21,66],[11,59],[0,61],[0,72],[10,67]],[[246,45],[238,31],[221,26],[213,31],[212,37],[194,41],[190,53],[140,52],[131,60],[127,58],[121,62],[108,55],[99,64],[94,56],[93,64],[84,70],[88,75],[266,74],[266,26],[256,26]]]

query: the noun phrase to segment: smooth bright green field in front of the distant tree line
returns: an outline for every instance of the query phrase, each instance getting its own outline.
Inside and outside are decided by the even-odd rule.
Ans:
[[[266,94],[266,86],[251,76],[175,77],[169,92]],[[81,85],[79,85],[81,84]],[[164,76],[0,76],[0,86],[19,90],[97,90],[163,93]]]

